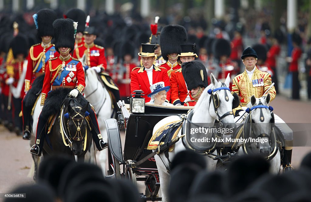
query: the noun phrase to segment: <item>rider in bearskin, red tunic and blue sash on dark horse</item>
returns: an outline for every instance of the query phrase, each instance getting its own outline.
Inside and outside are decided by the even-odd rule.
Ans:
[[[44,138],[46,135],[44,126],[49,118],[44,116],[44,112],[49,110],[49,105],[45,105],[45,107],[43,107],[48,92],[50,90],[57,89],[58,87],[70,88],[72,90],[69,95],[76,98],[79,93],[82,93],[82,90],[85,87],[85,77],[82,64],[79,60],[72,58],[69,54],[74,48],[75,29],[77,28],[77,23],[73,22],[71,19],[57,19],[53,22],[53,27],[55,48],[60,53],[60,56],[49,60],[46,68],[41,93],[41,107],[43,109],[38,120],[36,144],[30,149],[30,153],[37,156],[40,156],[42,152]],[[100,135],[96,115],[94,110],[91,109],[91,106],[89,106],[88,112],[90,113],[89,116],[93,126],[91,132],[96,147],[99,151],[103,150],[104,147],[107,146],[107,142],[104,142]]]

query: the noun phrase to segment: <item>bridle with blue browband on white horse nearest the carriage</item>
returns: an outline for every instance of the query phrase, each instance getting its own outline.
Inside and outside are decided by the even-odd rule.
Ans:
[[[225,114],[223,114],[222,116],[220,116],[217,112],[217,108],[219,107],[220,105],[220,102],[219,102],[219,96],[217,93],[215,93],[216,91],[218,90],[229,90],[230,92],[230,88],[226,87],[225,83],[221,82],[221,87],[220,88],[216,88],[216,89],[208,89],[207,93],[211,95],[210,97],[210,104],[208,106],[208,109],[210,108],[210,105],[211,105],[211,100],[213,101],[213,106],[214,106],[214,111],[218,117],[218,119],[216,118],[216,120],[219,122],[219,126],[222,127],[222,122],[221,120],[223,118],[225,118],[226,116],[229,116],[229,115],[233,115],[233,112],[232,110],[229,111],[229,112],[226,112]],[[229,97],[228,97],[228,94],[227,94],[227,91],[225,91],[225,100],[228,102],[229,101]]]

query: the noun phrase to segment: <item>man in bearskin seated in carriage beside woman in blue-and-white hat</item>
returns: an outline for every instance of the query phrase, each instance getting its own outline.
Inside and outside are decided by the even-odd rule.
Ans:
[[[193,60],[181,65],[183,78],[187,88],[191,91],[192,100],[186,101],[184,106],[195,106],[203,90],[208,86],[207,71],[201,61]]]

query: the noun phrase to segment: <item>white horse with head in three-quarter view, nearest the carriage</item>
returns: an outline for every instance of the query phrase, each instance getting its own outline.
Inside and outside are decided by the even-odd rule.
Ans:
[[[213,74],[211,74],[211,84],[202,92],[200,99],[198,100],[195,108],[193,109],[193,116],[191,119],[192,123],[211,123],[214,124],[215,120],[220,120],[223,123],[225,128],[235,128],[234,117],[232,113],[232,102],[234,97],[231,95],[230,89],[228,88],[230,83],[230,76],[228,74],[225,83],[218,82]],[[210,90],[209,90],[210,89]],[[211,93],[211,94],[209,94]],[[218,97],[219,106],[217,100],[210,99],[210,97],[216,99]],[[214,101],[213,101],[214,100]],[[215,105],[216,104],[216,105]],[[162,119],[159,123],[157,123],[153,129],[153,134],[163,126],[166,126],[168,123],[174,121],[180,121],[181,118],[179,116],[169,116]],[[188,130],[187,130],[188,131]],[[187,134],[187,136],[190,134]],[[181,136],[181,131],[179,131],[178,137]],[[212,134],[207,133],[200,136],[197,135],[197,138],[211,138]],[[183,137],[185,138],[185,137]],[[209,146],[210,143],[194,143],[199,147]],[[169,160],[172,161],[175,154],[179,151],[186,150],[186,147],[183,145],[183,142],[180,140],[176,142],[175,148],[172,152],[169,152]],[[213,154],[217,155],[217,151],[213,151]],[[159,176],[160,176],[160,184],[162,190],[162,201],[168,201],[168,186],[169,186],[169,172],[167,171],[167,167],[169,167],[169,162],[166,159],[165,155],[161,153],[160,155],[155,155],[156,165],[158,168]],[[162,160],[163,161],[162,161]],[[207,169],[210,171],[215,170],[217,161],[212,158],[206,156],[207,159]],[[181,176],[182,177],[182,176]]]

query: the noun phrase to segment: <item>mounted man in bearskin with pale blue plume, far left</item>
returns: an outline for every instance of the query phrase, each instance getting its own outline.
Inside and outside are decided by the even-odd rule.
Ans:
[[[26,96],[22,101],[23,112],[23,130],[24,140],[30,139],[30,116],[33,106],[35,105],[36,98],[39,96],[40,90],[33,89],[30,94],[27,94],[30,90],[33,81],[44,74],[45,64],[49,59],[57,57],[59,55],[55,50],[55,45],[51,44],[51,40],[54,35],[53,22],[56,20],[56,13],[51,9],[41,9],[33,15],[35,25],[38,30],[38,37],[42,39],[42,42],[30,47],[27,71],[25,77],[25,92]],[[41,88],[42,86],[38,86]],[[32,97],[32,98],[30,98]]]

